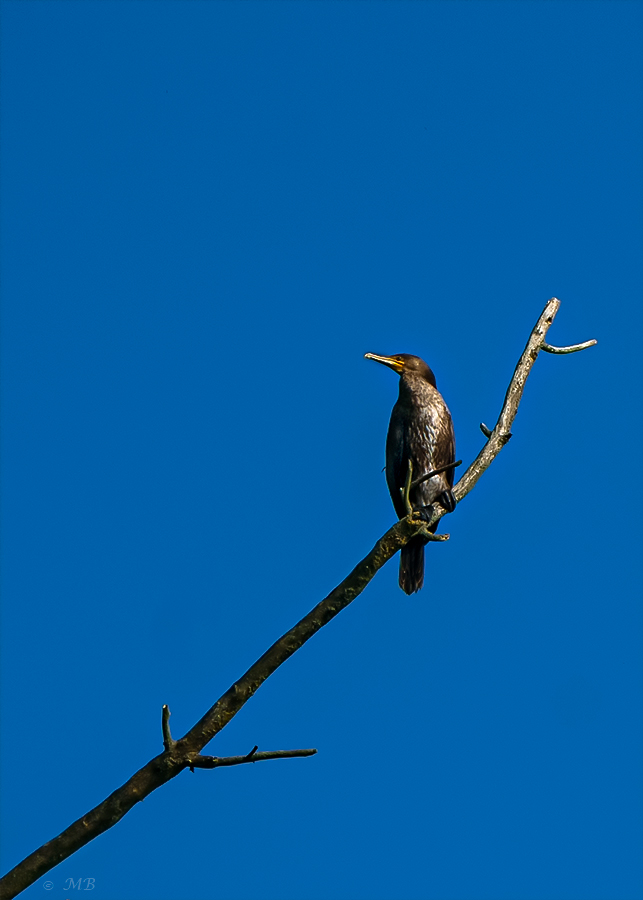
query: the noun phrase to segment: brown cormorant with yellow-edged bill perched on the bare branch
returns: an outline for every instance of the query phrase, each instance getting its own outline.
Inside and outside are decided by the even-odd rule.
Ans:
[[[409,460],[413,464],[412,487],[409,500],[414,510],[430,518],[434,500],[448,512],[456,505],[453,496],[453,472],[455,463],[455,436],[451,413],[442,394],[435,386],[435,376],[424,360],[408,353],[395,356],[377,356],[366,353],[366,359],[374,359],[393,369],[400,376],[400,395],[391,413],[386,436],[386,481],[393,506],[399,519],[406,509],[402,496]],[[423,475],[435,469],[446,471],[417,483]],[[431,526],[435,531],[438,523]],[[407,594],[419,591],[424,584],[424,545],[426,538],[414,537],[400,554],[400,587]]]

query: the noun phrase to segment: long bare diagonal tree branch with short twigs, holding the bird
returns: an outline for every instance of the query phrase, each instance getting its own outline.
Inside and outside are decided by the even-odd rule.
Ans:
[[[545,336],[551,326],[560,302],[552,298],[538,319],[527,346],[518,361],[515,372],[507,389],[505,402],[493,431],[489,431],[488,441],[474,462],[469,466],[454,488],[458,502],[461,502],[475,486],[480,476],[491,465],[498,453],[511,437],[511,424],[518,411],[525,382],[540,350],[548,352],[574,352],[592,346],[595,341],[578,344],[571,348],[552,349],[545,344]],[[482,426],[481,426],[482,427]],[[486,429],[486,430],[485,430]],[[412,472],[409,469],[408,485],[410,487]],[[407,494],[408,494],[407,488]],[[170,711],[165,706],[162,715],[163,743],[165,750],[139,769],[129,781],[114,791],[113,794],[78,819],[62,834],[44,844],[0,880],[0,900],[11,900],[38,878],[58,863],[71,856],[93,838],[115,825],[139,801],[144,800],[152,791],[175,778],[186,768],[217,768],[218,766],[240,765],[244,762],[255,762],[259,759],[276,759],[293,756],[309,756],[314,750],[283,750],[257,753],[256,748],[245,757],[205,757],[201,750],[222,728],[239,712],[242,706],[261,687],[282,663],[299,650],[306,641],[327,625],[335,616],[345,609],[355,597],[364,590],[375,573],[393,557],[408,541],[422,534],[429,540],[446,540],[448,535],[434,535],[428,526],[445,515],[446,510],[439,505],[429,522],[425,522],[417,514],[411,513],[401,519],[377,541],[371,552],[358,563],[347,578],[342,581],[317,606],[304,616],[290,631],[270,647],[248,671],[230,687],[226,693],[212,706],[208,712],[191,728],[186,735],[175,741],[170,733]],[[208,761],[207,763],[205,761]]]

